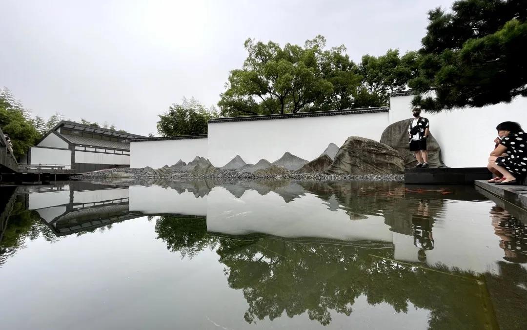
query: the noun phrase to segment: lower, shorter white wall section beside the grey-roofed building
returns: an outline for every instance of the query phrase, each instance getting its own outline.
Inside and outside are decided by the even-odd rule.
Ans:
[[[130,143],[130,167],[160,168],[180,159],[186,163],[196,156],[208,158],[207,139],[142,141]]]

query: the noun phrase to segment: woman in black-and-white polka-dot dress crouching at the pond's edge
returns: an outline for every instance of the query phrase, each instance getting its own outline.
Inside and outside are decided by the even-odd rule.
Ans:
[[[495,169],[505,178],[496,185],[515,185],[527,174],[527,134],[519,123],[512,121],[502,122],[496,130],[501,142],[491,152],[488,168]]]

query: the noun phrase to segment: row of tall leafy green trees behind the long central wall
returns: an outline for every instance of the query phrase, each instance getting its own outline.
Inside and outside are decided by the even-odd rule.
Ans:
[[[226,117],[324,111],[388,104],[389,93],[416,75],[417,54],[365,55],[356,65],[340,45],[317,36],[304,46],[249,39],[247,59],[232,70],[218,103]]]

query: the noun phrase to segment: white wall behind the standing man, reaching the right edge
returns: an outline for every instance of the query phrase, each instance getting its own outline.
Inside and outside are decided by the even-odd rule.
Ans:
[[[413,95],[390,99],[390,123],[412,117]],[[441,113],[422,113],[430,120],[430,131],[441,147],[448,167],[485,167],[494,149],[496,125],[516,121],[527,127],[527,98],[484,108],[455,109]]]

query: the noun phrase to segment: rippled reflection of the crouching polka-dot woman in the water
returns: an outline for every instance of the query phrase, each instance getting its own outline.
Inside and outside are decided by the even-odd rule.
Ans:
[[[494,234],[500,238],[500,248],[505,254],[503,259],[527,263],[527,225],[499,206],[492,207],[490,214]]]

